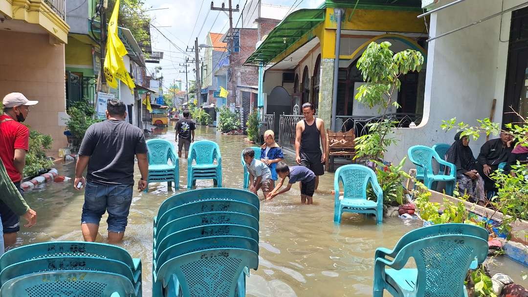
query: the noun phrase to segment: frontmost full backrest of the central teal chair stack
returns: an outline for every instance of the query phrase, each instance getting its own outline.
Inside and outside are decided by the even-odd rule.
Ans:
[[[165,287],[176,275],[182,297],[235,296],[244,267],[256,269],[258,255],[246,249],[209,249],[167,261],[154,272],[154,282]]]

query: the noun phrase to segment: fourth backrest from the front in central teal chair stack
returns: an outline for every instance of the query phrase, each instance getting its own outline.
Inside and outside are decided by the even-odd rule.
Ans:
[[[259,220],[257,218],[240,214],[239,212],[204,212],[203,214],[196,214],[186,216],[180,219],[167,222],[163,227],[156,231],[154,235],[154,244],[161,242],[167,235],[181,231],[184,229],[204,226],[204,225],[242,225],[259,230]]]

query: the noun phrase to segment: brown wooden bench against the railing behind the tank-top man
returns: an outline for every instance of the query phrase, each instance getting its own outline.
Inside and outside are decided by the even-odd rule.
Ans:
[[[326,130],[326,170],[330,172],[335,171],[335,157],[345,157],[350,159],[350,162],[340,162],[339,164],[350,164],[355,155],[355,139],[354,129],[348,132],[333,132],[330,129]]]

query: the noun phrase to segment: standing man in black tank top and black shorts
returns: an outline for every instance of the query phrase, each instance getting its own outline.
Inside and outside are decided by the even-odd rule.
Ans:
[[[312,103],[303,104],[303,120],[295,127],[295,161],[301,166],[312,170],[315,177],[315,189],[319,185],[319,175],[325,174],[323,164],[326,161],[325,122],[314,117],[315,108]],[[321,144],[323,152],[321,153]]]

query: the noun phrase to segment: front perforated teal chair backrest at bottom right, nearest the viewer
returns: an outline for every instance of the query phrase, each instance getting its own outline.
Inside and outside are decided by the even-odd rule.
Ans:
[[[395,261],[399,265],[414,258],[418,270],[416,296],[464,296],[464,279],[477,258],[483,263],[487,241],[470,235],[438,235],[404,246]]]

